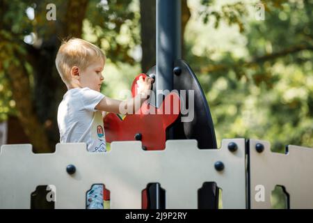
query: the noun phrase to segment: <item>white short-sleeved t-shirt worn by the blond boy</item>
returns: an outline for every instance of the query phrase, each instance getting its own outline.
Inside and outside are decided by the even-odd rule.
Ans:
[[[102,112],[95,106],[104,98],[89,88],[70,89],[58,106],[60,142],[85,142],[90,152],[106,152]]]

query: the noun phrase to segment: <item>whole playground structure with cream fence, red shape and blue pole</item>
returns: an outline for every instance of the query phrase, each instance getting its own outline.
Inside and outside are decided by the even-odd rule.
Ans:
[[[109,114],[108,153],[88,153],[86,144],[57,144],[55,153],[46,154],[33,154],[29,144],[2,146],[0,208],[30,208],[38,185],[49,185],[55,208],[86,208],[86,192],[102,183],[111,208],[217,208],[218,188],[223,208],[271,208],[275,185],[288,192],[289,208],[313,208],[311,148],[289,146],[284,155],[272,153],[267,141],[223,139],[217,149],[207,100],[181,60],[179,8],[180,0],[157,0],[157,65],[147,71],[157,97],[141,110],[157,110],[169,98],[188,105],[188,93],[183,101],[163,92],[192,90],[194,118],[182,122],[182,107],[179,115],[123,121]]]

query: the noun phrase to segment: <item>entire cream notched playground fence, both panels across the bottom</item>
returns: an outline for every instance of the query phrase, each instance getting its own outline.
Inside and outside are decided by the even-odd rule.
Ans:
[[[271,208],[275,185],[286,188],[290,208],[313,208],[312,148],[289,146],[284,155],[255,139],[224,139],[210,150],[195,140],[168,140],[164,151],[143,151],[140,141],[111,146],[108,153],[88,153],[86,144],[57,144],[45,154],[33,154],[30,144],[2,146],[0,208],[30,208],[38,185],[55,189],[55,208],[86,208],[95,183],[110,190],[111,208],[142,208],[149,183],[165,190],[166,208],[198,208],[206,182],[223,190],[223,208]]]

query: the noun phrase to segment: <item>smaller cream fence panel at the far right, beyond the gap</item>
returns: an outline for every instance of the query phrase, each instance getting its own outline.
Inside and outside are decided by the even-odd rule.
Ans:
[[[251,208],[271,208],[276,185],[287,190],[290,208],[313,208],[312,148],[288,146],[287,154],[273,153],[268,141],[250,139],[248,149]]]

